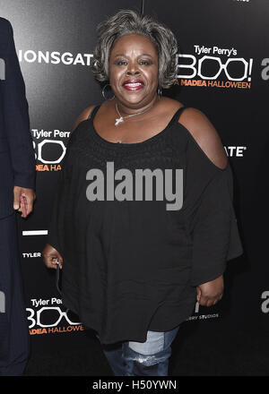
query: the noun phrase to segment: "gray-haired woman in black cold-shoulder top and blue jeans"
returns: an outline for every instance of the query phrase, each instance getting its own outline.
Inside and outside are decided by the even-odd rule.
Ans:
[[[43,251],[115,375],[167,376],[180,323],[221,299],[226,261],[242,253],[218,133],[160,94],[177,52],[167,27],[134,11],[100,24],[92,70],[114,96],[74,124]]]

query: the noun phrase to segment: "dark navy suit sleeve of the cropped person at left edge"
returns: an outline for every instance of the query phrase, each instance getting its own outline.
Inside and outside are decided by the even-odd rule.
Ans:
[[[13,40],[13,28],[7,23],[4,81],[4,131],[12,158],[14,185],[35,189],[36,160],[30,134],[29,106],[25,84]]]

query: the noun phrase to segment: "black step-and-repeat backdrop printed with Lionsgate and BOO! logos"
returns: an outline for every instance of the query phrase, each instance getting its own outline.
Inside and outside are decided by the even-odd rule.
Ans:
[[[89,65],[96,26],[119,9],[152,14],[178,39],[178,80],[164,96],[196,107],[221,135],[234,173],[234,205],[245,253],[229,262],[221,303],[196,304],[185,323],[197,330],[259,330],[268,321],[268,79],[267,0],[0,0],[11,21],[30,106],[37,158],[37,201],[18,216],[22,277],[34,347],[76,346],[86,331],[66,311],[56,271],[40,257],[65,146],[76,117],[103,101]],[[267,93],[267,95],[266,95]]]

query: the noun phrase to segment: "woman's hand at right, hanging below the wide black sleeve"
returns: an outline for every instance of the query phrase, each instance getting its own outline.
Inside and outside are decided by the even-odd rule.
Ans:
[[[212,306],[217,304],[223,295],[223,276],[211,280],[210,282],[203,283],[196,287],[197,301],[203,306]]]

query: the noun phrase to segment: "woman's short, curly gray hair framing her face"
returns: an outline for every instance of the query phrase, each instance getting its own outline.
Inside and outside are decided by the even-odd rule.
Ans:
[[[159,86],[168,89],[177,80],[178,42],[173,32],[151,16],[120,10],[97,27],[97,45],[91,71],[98,81],[109,80],[108,62],[114,42],[126,34],[142,34],[152,40],[159,58]]]

